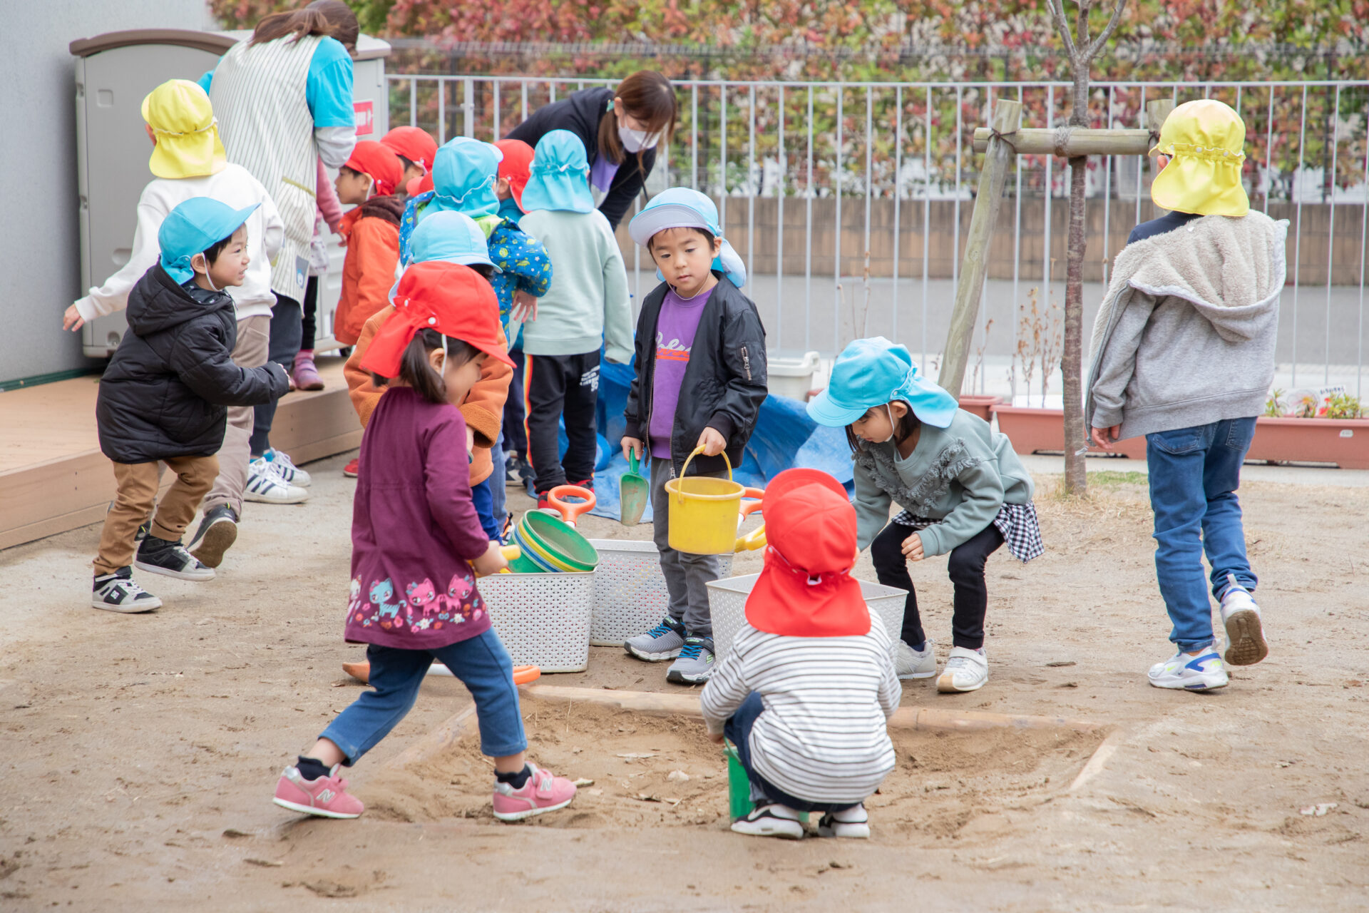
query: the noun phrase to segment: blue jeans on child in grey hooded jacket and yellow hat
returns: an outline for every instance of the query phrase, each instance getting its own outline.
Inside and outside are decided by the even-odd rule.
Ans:
[[[1212,594],[1221,600],[1235,578],[1254,591],[1255,574],[1246,557],[1240,524],[1240,464],[1246,460],[1254,419],[1225,419],[1194,428],[1146,435],[1150,508],[1155,513],[1155,576],[1180,650],[1213,643]],[[1202,556],[1212,565],[1203,578]]]

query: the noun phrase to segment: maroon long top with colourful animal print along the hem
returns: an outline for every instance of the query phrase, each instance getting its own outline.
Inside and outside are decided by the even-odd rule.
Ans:
[[[460,411],[386,390],[361,437],[356,483],[348,642],[428,650],[487,631],[467,561],[490,541],[471,504]]]

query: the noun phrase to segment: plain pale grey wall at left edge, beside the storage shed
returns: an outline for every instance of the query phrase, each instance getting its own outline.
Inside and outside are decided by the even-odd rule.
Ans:
[[[75,57],[67,45],[125,29],[205,29],[211,18],[204,0],[4,0],[0,7],[3,383],[97,364],[81,355],[79,333],[62,330],[62,312],[82,293]],[[133,219],[130,212],[130,226]]]

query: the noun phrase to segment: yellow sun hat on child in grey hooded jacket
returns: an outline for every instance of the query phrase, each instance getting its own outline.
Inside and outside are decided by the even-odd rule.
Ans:
[[[1179,105],[1165,118],[1160,141],[1150,151],[1169,156],[1150,185],[1150,198],[1161,209],[1246,215],[1250,198],[1240,183],[1244,145],[1246,125],[1229,105],[1216,99]]]

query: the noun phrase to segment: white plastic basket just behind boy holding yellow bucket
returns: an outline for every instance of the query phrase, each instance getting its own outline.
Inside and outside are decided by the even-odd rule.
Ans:
[[[623,646],[665,617],[669,595],[654,542],[590,539],[600,553],[594,569],[594,619],[590,643]],[[732,572],[732,556],[720,554],[723,576]]]

